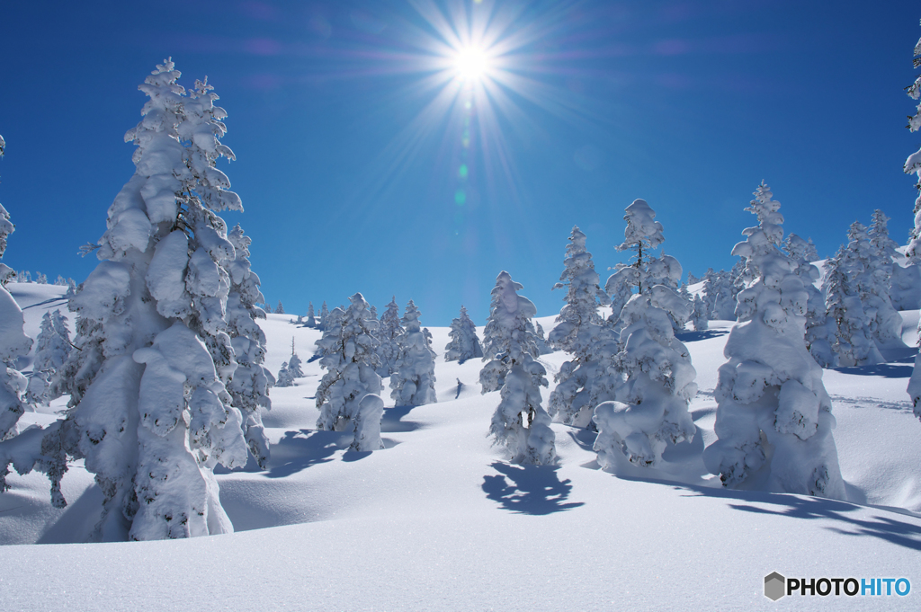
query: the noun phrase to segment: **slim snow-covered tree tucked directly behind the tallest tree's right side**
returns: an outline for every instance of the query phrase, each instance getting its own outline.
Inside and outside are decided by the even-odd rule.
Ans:
[[[270,410],[269,388],[274,378],[265,363],[265,333],[256,319],[265,318],[262,308],[256,306],[265,301],[259,290],[260,280],[251,270],[251,237],[235,225],[227,234],[234,248],[234,260],[230,263],[230,292],[227,294],[227,334],[233,347],[237,369],[234,370],[227,391],[233,398],[233,405],[243,414],[243,433],[246,436],[250,454],[260,468],[269,460],[269,439],[262,427],[260,410]],[[227,384],[227,383],[225,383]]]

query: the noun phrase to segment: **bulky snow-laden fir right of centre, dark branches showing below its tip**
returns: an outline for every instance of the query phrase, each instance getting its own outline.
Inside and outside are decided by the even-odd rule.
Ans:
[[[656,215],[643,200],[628,206],[628,239],[629,212],[637,202],[647,218]],[[662,225],[656,225],[656,242],[661,244]],[[613,357],[614,369],[623,375],[617,382],[624,382],[615,388],[616,400],[601,402],[594,410],[594,449],[602,468],[614,468],[621,455],[635,465],[654,466],[668,445],[690,439],[696,431],[687,410],[697,393],[696,372],[687,349],[674,336],[675,321],[690,315],[687,300],[677,292],[681,265],[674,258],[649,258],[636,270],[640,292],[621,312],[621,350]]]

